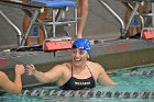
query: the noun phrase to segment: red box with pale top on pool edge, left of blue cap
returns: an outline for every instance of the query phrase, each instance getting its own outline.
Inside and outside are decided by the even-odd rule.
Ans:
[[[74,39],[70,37],[46,38],[43,44],[45,52],[70,49]]]

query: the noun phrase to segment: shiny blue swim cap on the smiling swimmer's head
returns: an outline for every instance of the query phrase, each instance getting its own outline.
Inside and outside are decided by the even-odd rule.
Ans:
[[[87,38],[77,38],[73,43],[73,48],[79,48],[80,50],[87,50],[90,54],[90,42]]]

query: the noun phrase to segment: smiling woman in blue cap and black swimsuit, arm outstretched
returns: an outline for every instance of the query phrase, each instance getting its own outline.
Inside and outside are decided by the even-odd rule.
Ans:
[[[77,38],[72,47],[72,61],[56,65],[47,72],[37,71],[34,65],[29,65],[25,71],[42,83],[55,82],[62,90],[92,89],[96,83],[118,84],[100,64],[88,60],[89,55],[90,42],[87,38]]]

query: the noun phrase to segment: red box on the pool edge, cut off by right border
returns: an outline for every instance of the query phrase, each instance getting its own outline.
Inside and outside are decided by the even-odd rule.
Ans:
[[[154,39],[154,30],[143,30],[143,39]]]

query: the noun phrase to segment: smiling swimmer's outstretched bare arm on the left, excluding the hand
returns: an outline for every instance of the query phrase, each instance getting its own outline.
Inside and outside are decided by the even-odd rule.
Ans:
[[[59,67],[61,66],[57,65],[47,72],[37,71],[35,69],[32,75],[42,83],[55,82],[63,75],[63,68]]]

